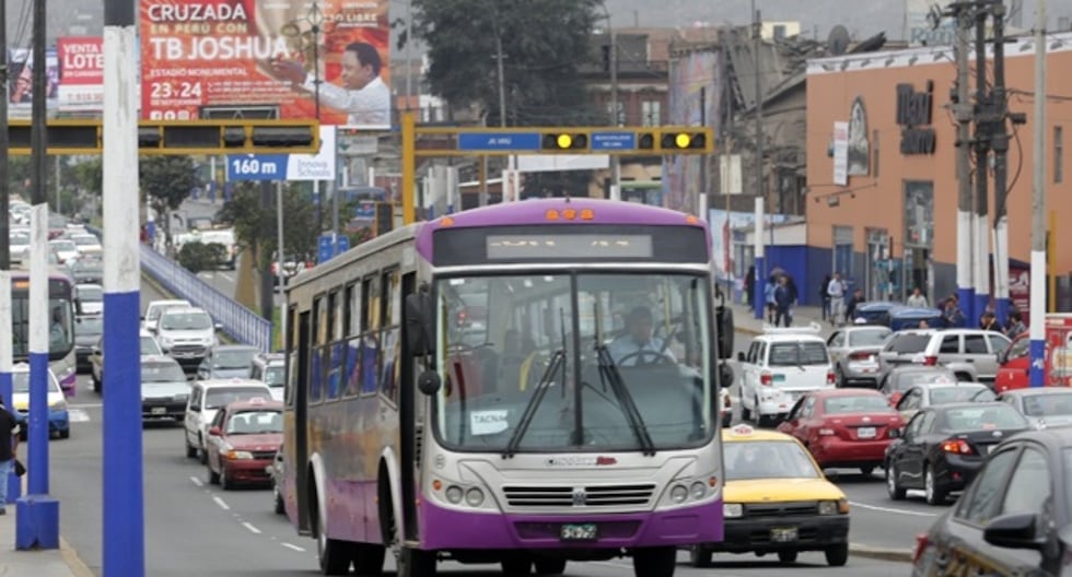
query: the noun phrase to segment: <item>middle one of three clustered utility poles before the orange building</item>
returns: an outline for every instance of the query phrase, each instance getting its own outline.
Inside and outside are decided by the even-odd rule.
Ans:
[[[976,131],[975,131],[975,155],[976,155],[976,195],[975,195],[975,238],[972,246],[972,269],[975,270],[975,303],[965,309],[964,320],[966,327],[971,327],[978,320],[979,315],[987,309],[990,302],[990,238],[987,225],[989,202],[987,193],[989,181],[987,178],[987,167],[990,160],[990,122],[986,120],[986,115],[990,108],[990,96],[987,92],[987,10],[978,10],[975,14],[976,26]],[[970,313],[968,313],[970,310]]]

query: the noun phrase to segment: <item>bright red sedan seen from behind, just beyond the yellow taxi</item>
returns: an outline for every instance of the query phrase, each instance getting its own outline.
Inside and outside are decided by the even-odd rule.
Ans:
[[[860,468],[870,475],[882,466],[890,432],[904,425],[876,390],[822,389],[801,397],[778,431],[800,439],[824,469]]]

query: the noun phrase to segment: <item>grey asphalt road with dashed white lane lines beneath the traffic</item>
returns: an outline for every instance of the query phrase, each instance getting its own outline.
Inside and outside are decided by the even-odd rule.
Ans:
[[[142,290],[142,308],[160,298],[148,285]],[[741,340],[738,342],[747,342]],[[51,492],[60,505],[60,528],[79,556],[102,575],[102,405],[89,379],[79,379],[71,400],[72,435],[51,444]],[[178,425],[150,424],[143,431],[147,575],[153,577],[316,575],[312,540],[299,537],[286,517],[271,511],[270,492],[248,488],[223,492],[207,483],[206,470],[183,451]],[[116,474],[116,473],[113,473]],[[838,480],[854,507],[852,541],[870,545],[909,546],[933,513],[925,505],[909,503],[889,507],[881,479],[862,480],[843,475]],[[869,509],[883,507],[883,509]],[[887,510],[888,509],[888,510]],[[899,513],[894,513],[894,510]],[[902,510],[902,511],[901,511]],[[909,513],[910,511],[910,513]],[[888,540],[889,543],[885,543]],[[716,555],[710,569],[683,565],[678,575],[724,577],[790,577],[797,575],[844,575],[887,577],[908,573],[902,563],[853,556],[841,568],[828,567],[822,554],[802,554],[799,563],[781,566],[770,556]],[[388,572],[393,563],[388,561]],[[492,566],[440,565],[444,574],[498,575]],[[570,564],[567,575],[581,577],[631,574],[628,560]]]

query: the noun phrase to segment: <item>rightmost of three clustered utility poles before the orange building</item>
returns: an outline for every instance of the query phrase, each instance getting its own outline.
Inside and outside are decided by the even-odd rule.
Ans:
[[[1009,131],[1005,99],[1005,5],[991,4],[994,38],[994,87],[991,111],[993,133],[990,148],[994,151],[994,313],[999,322],[1009,318],[1009,217],[1005,202],[1009,197]]]

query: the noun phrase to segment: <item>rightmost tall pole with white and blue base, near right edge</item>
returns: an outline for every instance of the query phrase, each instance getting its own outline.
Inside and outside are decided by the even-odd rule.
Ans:
[[[1035,157],[1032,186],[1030,385],[1046,384],[1046,0],[1035,22]],[[1051,231],[1054,234],[1056,231]]]

